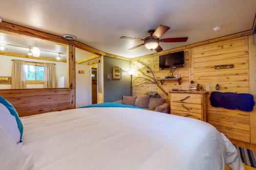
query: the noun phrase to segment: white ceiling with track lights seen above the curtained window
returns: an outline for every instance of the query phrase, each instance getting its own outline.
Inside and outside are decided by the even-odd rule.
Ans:
[[[57,53],[61,53],[60,60],[67,60],[66,46],[49,43],[46,41],[38,41],[38,40],[35,41],[34,39],[31,39],[31,38],[19,37],[16,35],[0,33],[0,46],[6,47],[4,51],[0,51],[0,52],[28,55],[29,48],[24,48],[24,47],[33,48],[36,45],[35,43],[37,44],[37,47],[40,50],[48,51],[48,52],[40,51],[40,57],[56,59],[56,57],[58,56]],[[11,44],[11,45],[6,45],[6,44]],[[12,45],[18,45],[18,46],[24,46],[24,47],[17,47]]]

